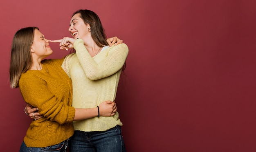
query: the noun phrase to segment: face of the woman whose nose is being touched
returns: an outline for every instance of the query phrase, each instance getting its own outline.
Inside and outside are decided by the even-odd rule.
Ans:
[[[44,35],[37,29],[34,32],[34,40],[31,45],[31,52],[38,57],[47,57],[52,54],[52,48],[49,46],[50,40],[45,39]]]

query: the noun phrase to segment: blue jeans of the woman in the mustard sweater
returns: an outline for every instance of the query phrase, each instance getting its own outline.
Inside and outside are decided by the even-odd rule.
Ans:
[[[20,152],[67,152],[67,144],[68,144],[68,139],[56,145],[38,148],[38,147],[27,147],[27,145],[23,141],[20,146]]]

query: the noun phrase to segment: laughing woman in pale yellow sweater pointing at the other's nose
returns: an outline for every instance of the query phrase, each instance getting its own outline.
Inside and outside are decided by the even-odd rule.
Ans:
[[[128,46],[108,46],[101,21],[90,10],[76,11],[69,31],[74,38],[64,37],[61,49],[75,48],[62,67],[72,79],[75,108],[92,108],[102,101],[114,101]],[[84,90],[85,89],[85,90]],[[71,152],[125,152],[118,112],[112,117],[94,117],[74,121],[75,132],[70,140]]]

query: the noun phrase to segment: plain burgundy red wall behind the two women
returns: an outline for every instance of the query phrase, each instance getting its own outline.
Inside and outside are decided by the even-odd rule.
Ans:
[[[1,151],[18,151],[31,121],[9,87],[14,33],[69,36],[77,9],[95,11],[107,36],[129,46],[116,99],[128,152],[256,151],[254,0],[2,0]],[[68,54],[51,46],[52,58]]]

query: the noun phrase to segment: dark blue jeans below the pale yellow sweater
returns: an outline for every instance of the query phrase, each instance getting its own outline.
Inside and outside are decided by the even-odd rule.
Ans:
[[[75,130],[69,141],[70,152],[126,152],[121,126],[107,131]]]

